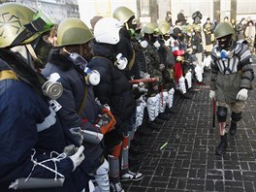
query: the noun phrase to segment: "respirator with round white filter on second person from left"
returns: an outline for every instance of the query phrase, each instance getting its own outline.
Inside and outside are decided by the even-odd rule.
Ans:
[[[98,71],[90,70],[87,67],[87,61],[80,56],[79,53],[73,52],[70,53],[70,58],[74,62],[75,65],[79,66],[80,69],[85,73],[85,82],[86,84],[97,85],[100,83],[101,76]]]

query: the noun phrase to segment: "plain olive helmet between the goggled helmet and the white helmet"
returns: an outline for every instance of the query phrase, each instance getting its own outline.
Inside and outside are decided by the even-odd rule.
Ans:
[[[90,29],[80,18],[66,18],[58,26],[57,44],[59,47],[81,45],[92,39]]]

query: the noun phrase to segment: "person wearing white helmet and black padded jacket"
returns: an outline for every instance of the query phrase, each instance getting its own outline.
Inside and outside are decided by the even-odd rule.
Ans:
[[[128,60],[122,56],[117,46],[122,24],[111,17],[102,18],[95,24],[94,57],[88,65],[91,70],[97,70],[101,75],[100,83],[94,86],[95,95],[100,103],[110,107],[116,120],[115,129],[105,135],[105,144],[110,162],[111,188],[118,192],[124,191],[120,179],[124,181],[143,178],[142,174],[131,172],[128,164],[127,135],[136,104],[131,84],[123,71]],[[121,172],[119,167],[122,168]]]

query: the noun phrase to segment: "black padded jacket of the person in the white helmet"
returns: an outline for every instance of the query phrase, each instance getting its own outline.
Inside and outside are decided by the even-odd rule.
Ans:
[[[115,129],[106,134],[107,144],[110,140],[114,145],[123,139],[123,133],[128,131],[128,122],[135,112],[135,100],[131,84],[125,77],[125,72],[114,66],[115,51],[111,45],[94,43],[94,57],[89,62],[91,70],[97,70],[101,75],[101,81],[94,86],[95,96],[101,104],[108,104],[115,117]],[[109,138],[109,139],[108,139]],[[111,145],[112,145],[111,144]]]

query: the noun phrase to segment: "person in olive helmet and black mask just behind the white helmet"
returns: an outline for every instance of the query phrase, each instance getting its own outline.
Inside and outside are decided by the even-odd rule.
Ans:
[[[134,12],[132,12],[130,9],[126,7],[121,6],[113,11],[112,16],[123,23],[123,27],[121,29],[120,42],[117,44],[118,51],[124,53],[123,56],[125,56],[125,52],[127,51],[124,51],[123,48],[129,48],[131,50],[129,51],[131,55],[128,55],[127,57],[125,56],[126,58],[128,58],[129,62],[125,69],[126,77],[128,78],[128,80],[141,80],[148,78],[148,76],[146,76],[148,74],[146,74],[144,52],[137,39],[137,37],[140,35],[139,33],[141,32],[141,30],[138,29]],[[138,138],[137,136],[139,134],[140,136],[150,135],[148,134],[148,131],[142,129],[141,127],[139,129],[139,134],[137,132],[137,129],[139,128],[139,126],[142,125],[144,119],[144,95],[147,92],[146,84],[143,81],[141,81],[139,83],[134,83],[132,85],[137,108],[133,114],[130,123],[128,133],[128,146],[124,146],[123,148],[124,150],[126,150],[126,147],[129,148],[128,156],[130,166],[141,164],[141,158],[136,158],[134,155],[137,156],[138,154],[144,153],[144,151],[138,147],[138,145],[141,144],[138,142],[138,140],[135,139]]]

